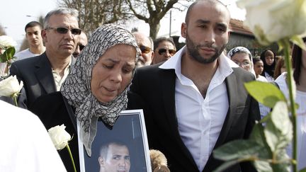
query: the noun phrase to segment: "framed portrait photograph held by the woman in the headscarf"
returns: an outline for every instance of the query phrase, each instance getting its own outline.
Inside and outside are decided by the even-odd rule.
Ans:
[[[152,171],[142,110],[123,110],[111,129],[98,121],[91,157],[78,142],[81,172]]]

